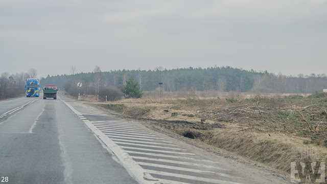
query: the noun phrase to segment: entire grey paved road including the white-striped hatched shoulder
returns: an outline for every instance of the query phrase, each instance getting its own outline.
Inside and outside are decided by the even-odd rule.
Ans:
[[[0,101],[3,183],[287,183],[58,95]]]

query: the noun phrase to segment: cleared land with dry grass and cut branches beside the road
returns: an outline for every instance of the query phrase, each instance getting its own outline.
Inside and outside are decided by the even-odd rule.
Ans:
[[[204,146],[234,152],[288,174],[290,163],[306,147],[316,147],[317,157],[326,158],[324,93],[219,97],[194,93],[158,101],[148,96],[94,104],[119,116],[142,120],[153,129],[195,138]]]

